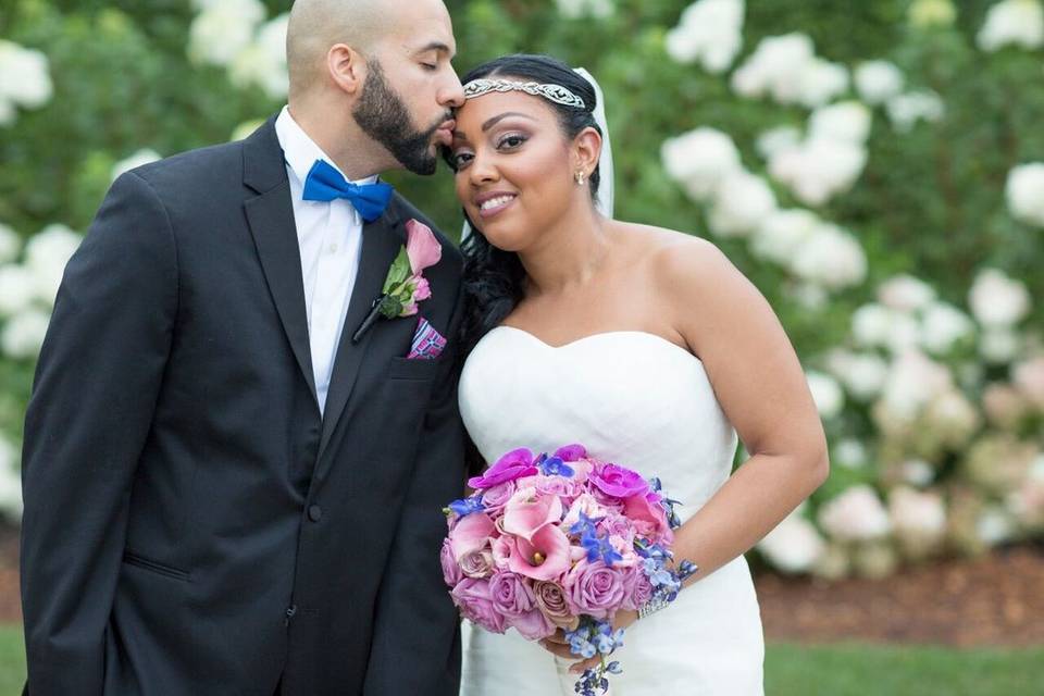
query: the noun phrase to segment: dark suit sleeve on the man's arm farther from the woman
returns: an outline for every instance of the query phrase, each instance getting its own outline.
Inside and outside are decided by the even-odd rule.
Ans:
[[[177,310],[167,213],[121,176],[70,260],[23,451],[22,607],[33,696],[102,693],[130,486]]]

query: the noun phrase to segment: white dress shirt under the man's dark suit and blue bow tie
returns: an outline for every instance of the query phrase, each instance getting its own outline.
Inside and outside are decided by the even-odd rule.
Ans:
[[[326,408],[330,376],[345,327],[348,301],[359,271],[362,217],[343,198],[330,202],[301,198],[304,179],[315,160],[326,160],[338,172],[340,170],[333,158],[323,152],[294,121],[287,107],[283,108],[275,121],[275,133],[286,157],[286,174],[290,179],[297,243],[301,250],[304,311],[308,315],[315,396],[322,413]],[[344,176],[344,172],[340,174]],[[371,176],[352,183],[372,184],[376,178]]]

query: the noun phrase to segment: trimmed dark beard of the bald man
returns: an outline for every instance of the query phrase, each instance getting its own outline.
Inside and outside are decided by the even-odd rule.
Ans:
[[[384,78],[376,61],[362,85],[362,98],[351,112],[359,127],[384,146],[399,163],[414,174],[434,174],[437,156],[432,144],[438,127],[452,117],[447,113],[431,128],[420,132],[399,96]]]

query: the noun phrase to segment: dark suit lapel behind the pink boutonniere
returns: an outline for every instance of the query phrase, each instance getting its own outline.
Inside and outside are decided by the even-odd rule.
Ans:
[[[406,231],[402,221],[396,211],[393,200],[384,214],[362,228],[362,252],[359,259],[359,273],[348,302],[348,313],[345,318],[345,327],[341,331],[340,343],[337,346],[337,357],[334,360],[334,371],[330,378],[330,390],[326,395],[326,408],[323,415],[323,436],[319,445],[319,462],[315,478],[322,476],[328,463],[324,465],[323,453],[330,444],[334,428],[340,420],[351,396],[352,386],[359,374],[359,366],[365,356],[370,339],[377,332],[380,323],[364,333],[358,344],[351,343],[351,336],[359,328],[373,306],[373,300],[381,296],[384,279],[388,269],[399,249],[406,244]]]

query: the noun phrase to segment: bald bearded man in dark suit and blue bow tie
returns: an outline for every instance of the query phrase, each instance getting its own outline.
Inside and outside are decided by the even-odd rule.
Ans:
[[[433,173],[463,100],[450,18],[297,0],[287,45],[289,108],[121,176],[65,272],[25,425],[32,696],[457,694],[445,238],[420,314],[353,340],[424,220],[374,175]]]

